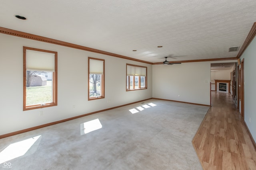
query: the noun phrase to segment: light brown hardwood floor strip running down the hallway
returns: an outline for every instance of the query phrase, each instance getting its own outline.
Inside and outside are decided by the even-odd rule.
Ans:
[[[256,150],[231,94],[212,92],[192,143],[204,170],[256,170]]]

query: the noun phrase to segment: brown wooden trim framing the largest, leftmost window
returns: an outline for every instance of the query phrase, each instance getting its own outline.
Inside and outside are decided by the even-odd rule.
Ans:
[[[41,51],[46,53],[54,53],[54,67],[55,71],[52,72],[52,102],[47,103],[44,105],[36,104],[31,106],[26,106],[26,50],[33,50],[33,51]],[[49,50],[43,50],[43,49],[36,49],[31,47],[25,47],[23,46],[23,111],[31,110],[31,109],[38,109],[38,108],[44,108],[44,107],[51,107],[51,106],[57,106],[57,67],[58,67],[58,53],[56,51],[49,51]]]

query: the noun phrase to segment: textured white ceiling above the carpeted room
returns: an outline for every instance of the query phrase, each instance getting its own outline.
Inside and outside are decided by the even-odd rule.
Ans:
[[[165,56],[172,57],[168,61],[236,57],[228,47],[241,47],[255,21],[256,0],[2,0],[0,5],[1,27],[149,62]]]

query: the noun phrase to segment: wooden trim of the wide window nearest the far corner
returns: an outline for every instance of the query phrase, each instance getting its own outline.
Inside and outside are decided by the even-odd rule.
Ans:
[[[144,88],[140,88],[140,77],[141,76],[138,76],[138,84],[139,84],[139,88],[135,88],[135,76],[133,76],[133,84],[132,84],[132,88],[133,89],[130,89],[130,76],[128,76],[128,89],[126,87],[126,91],[134,91],[134,90],[144,90],[144,89],[147,89],[148,86],[147,86],[147,82],[148,82],[148,67],[146,66],[139,66],[139,65],[134,65],[134,64],[126,64],[126,84],[127,84],[127,66],[135,66],[135,67],[142,67],[142,68],[146,68],[146,76],[145,76],[145,87]]]

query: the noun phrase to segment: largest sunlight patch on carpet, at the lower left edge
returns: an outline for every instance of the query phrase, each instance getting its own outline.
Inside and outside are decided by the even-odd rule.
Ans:
[[[39,137],[41,135],[10,144],[0,152],[0,164],[26,154]]]

